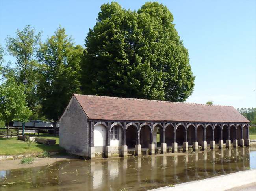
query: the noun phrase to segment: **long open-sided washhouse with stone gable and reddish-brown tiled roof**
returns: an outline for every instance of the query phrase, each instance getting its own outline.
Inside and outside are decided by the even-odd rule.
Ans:
[[[74,94],[60,118],[60,146],[95,158],[250,146],[249,120],[232,106]],[[217,145],[216,145],[217,144]]]

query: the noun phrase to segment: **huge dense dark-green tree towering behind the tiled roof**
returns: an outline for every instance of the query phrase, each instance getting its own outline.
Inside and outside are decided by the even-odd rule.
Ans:
[[[85,39],[82,92],[183,102],[194,87],[188,50],[162,4],[103,4]]]

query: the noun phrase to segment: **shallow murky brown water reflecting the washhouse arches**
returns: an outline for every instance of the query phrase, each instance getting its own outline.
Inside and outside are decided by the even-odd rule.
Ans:
[[[256,168],[256,146],[0,171],[0,190],[147,190]]]

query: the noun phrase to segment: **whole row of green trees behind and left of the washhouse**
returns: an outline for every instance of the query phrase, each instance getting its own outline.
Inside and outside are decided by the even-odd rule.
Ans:
[[[0,116],[6,122],[28,116],[56,122],[72,93],[183,102],[194,87],[188,51],[173,15],[157,2],[138,11],[116,2],[103,4],[85,48],[75,45],[64,28],[41,42],[41,32],[27,25],[6,38],[6,52],[16,58],[3,64],[0,49]],[[13,106],[19,110],[8,108]],[[26,117],[11,116],[20,112]]]

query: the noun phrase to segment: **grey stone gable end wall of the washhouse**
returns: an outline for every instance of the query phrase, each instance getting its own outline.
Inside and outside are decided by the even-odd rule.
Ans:
[[[89,122],[76,100],[72,98],[60,120],[59,145],[69,153],[88,156]]]

